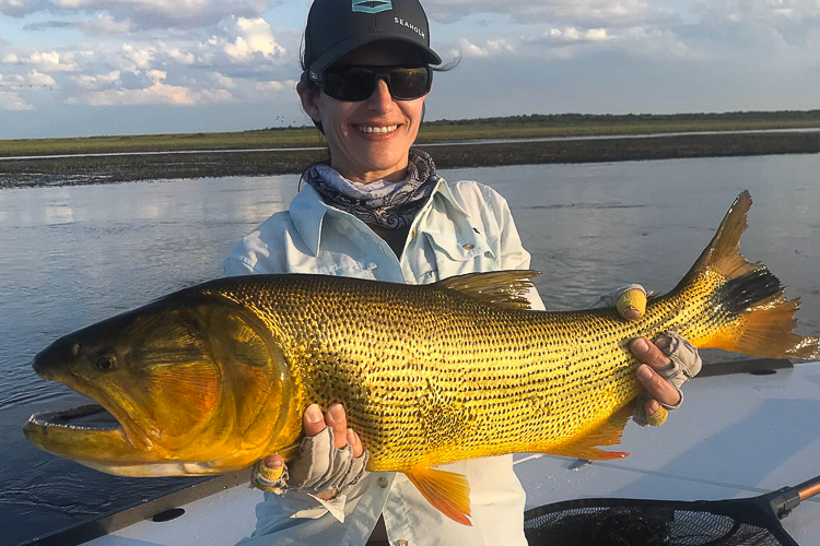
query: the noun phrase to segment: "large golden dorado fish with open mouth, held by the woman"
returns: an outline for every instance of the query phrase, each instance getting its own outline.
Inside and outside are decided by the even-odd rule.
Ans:
[[[69,334],[34,369],[99,406],[33,415],[38,447],[124,476],[227,473],[300,440],[311,403],[340,402],[370,471],[407,474],[469,523],[469,486],[447,462],[511,452],[593,460],[641,391],[628,344],[676,331],[699,347],[820,358],[793,333],[798,300],[739,239],[737,199],[669,294],[633,322],[614,309],[529,311],[532,271],[432,285],[321,275],[221,278]],[[105,408],[105,410],[103,410]],[[99,423],[105,411],[114,419]]]

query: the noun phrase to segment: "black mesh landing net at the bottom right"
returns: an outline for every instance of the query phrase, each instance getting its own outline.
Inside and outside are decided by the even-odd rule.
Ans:
[[[524,529],[530,546],[795,546],[755,500],[559,502],[527,512]]]

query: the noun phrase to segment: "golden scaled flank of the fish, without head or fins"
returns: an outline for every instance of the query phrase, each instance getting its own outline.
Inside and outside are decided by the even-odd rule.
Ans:
[[[636,363],[623,340],[658,314],[651,307],[624,323],[612,311],[511,311],[446,288],[312,275],[246,282],[253,288],[223,296],[286,347],[303,405],[344,405],[374,471],[546,451],[572,438],[634,397]],[[308,317],[320,317],[315,335]],[[577,339],[571,351],[552,342],[567,336]],[[578,405],[589,411],[567,411]]]

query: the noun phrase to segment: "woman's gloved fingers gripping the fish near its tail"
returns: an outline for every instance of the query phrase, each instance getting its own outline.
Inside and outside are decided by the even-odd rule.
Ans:
[[[692,344],[672,332],[665,332],[655,343],[646,337],[633,340],[630,351],[642,363],[636,375],[646,389],[639,396],[634,419],[641,425],[661,425],[666,411],[683,402],[680,387],[701,370],[701,357]]]

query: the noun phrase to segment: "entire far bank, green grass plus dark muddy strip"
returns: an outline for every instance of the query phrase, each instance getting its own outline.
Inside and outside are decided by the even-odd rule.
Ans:
[[[783,131],[761,132],[770,129]],[[562,114],[441,120],[424,124],[418,145],[424,149],[426,144],[438,143],[429,152],[442,169],[820,153],[820,132],[799,129],[820,129],[820,110],[668,116]],[[698,133],[702,131],[706,133]],[[635,134],[644,136],[631,136]],[[594,135],[621,138],[572,139]],[[570,139],[538,140],[550,136]],[[475,142],[485,139],[503,140]],[[314,162],[327,159],[324,144],[324,139],[313,127],[234,133],[0,140],[0,189],[173,178],[295,175]],[[178,151],[191,152],[174,154]],[[50,155],[57,157],[48,157]]]

